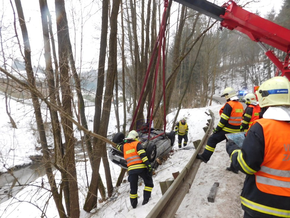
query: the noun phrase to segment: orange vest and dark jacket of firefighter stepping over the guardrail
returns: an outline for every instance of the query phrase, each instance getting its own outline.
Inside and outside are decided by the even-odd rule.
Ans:
[[[228,114],[224,112],[224,107],[229,105],[232,110],[228,111]],[[228,101],[219,111],[221,120],[218,123],[218,127],[226,132],[240,132],[240,125],[243,115],[243,105],[238,101]],[[218,128],[217,127],[217,128]]]

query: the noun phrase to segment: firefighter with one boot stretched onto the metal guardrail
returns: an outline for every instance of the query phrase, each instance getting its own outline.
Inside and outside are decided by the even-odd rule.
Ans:
[[[232,87],[224,89],[221,97],[225,97],[227,103],[219,110],[220,120],[213,133],[206,143],[202,154],[197,154],[197,159],[207,163],[213,154],[216,144],[227,139],[225,134],[240,132],[240,125],[243,115],[243,105],[238,101],[238,96]],[[238,173],[234,168],[228,167],[227,170]]]

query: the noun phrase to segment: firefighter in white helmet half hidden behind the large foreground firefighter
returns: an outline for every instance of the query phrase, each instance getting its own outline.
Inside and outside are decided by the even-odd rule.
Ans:
[[[259,119],[259,113],[261,112],[259,102],[257,101],[256,96],[253,93],[246,94],[244,100],[247,107],[243,113],[243,120],[240,127],[241,132],[247,132],[253,122]]]

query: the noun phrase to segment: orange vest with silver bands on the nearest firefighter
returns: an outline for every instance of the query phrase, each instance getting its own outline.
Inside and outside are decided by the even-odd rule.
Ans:
[[[289,135],[277,137],[276,131],[290,132],[290,123],[271,119],[258,119],[265,140],[264,161],[257,171],[256,185],[262,192],[290,197],[290,140]],[[278,127],[278,128],[277,128]]]

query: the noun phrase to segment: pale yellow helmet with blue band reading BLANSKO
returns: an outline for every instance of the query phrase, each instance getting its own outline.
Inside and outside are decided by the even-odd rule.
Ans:
[[[256,91],[261,108],[275,105],[290,105],[290,83],[282,76],[266,80]]]

